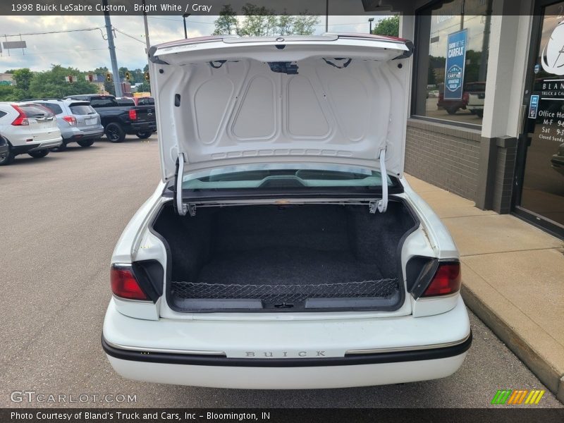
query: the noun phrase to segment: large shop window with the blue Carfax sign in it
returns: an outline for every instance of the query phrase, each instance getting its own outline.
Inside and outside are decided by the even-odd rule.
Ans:
[[[492,1],[441,1],[418,11],[413,115],[482,125]]]

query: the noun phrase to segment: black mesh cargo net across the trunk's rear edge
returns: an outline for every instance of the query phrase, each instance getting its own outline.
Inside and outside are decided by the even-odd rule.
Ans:
[[[241,285],[238,283],[172,282],[171,292],[185,299],[245,299],[266,303],[303,302],[308,298],[390,298],[399,290],[398,279],[317,283],[303,285]]]

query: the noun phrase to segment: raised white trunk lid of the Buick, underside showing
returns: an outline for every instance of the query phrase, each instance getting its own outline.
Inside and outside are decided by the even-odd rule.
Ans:
[[[360,34],[152,47],[163,180],[179,157],[181,174],[316,162],[401,177],[411,53],[403,39]]]

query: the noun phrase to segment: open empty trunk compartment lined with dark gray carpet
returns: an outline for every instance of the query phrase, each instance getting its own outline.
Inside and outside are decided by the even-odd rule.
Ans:
[[[168,244],[166,298],[177,312],[396,310],[410,209],[364,204],[200,207],[167,203],[153,231]]]

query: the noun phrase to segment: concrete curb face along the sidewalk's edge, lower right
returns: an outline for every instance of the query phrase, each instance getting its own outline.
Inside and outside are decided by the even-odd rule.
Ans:
[[[525,363],[539,380],[564,404],[564,375],[544,360],[534,348],[515,332],[501,317],[483,302],[470,288],[462,285],[462,299],[468,308],[493,331],[507,347]]]

